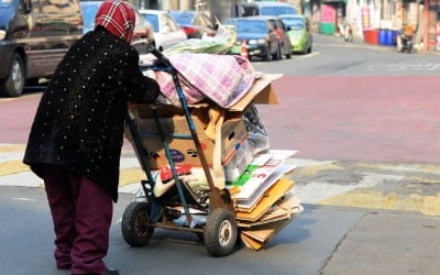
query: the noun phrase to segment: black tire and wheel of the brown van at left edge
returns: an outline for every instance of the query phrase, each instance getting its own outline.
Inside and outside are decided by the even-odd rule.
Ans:
[[[16,84],[16,81],[19,82]],[[25,82],[26,72],[23,59],[18,53],[14,53],[9,67],[9,76],[3,81],[0,81],[0,95],[4,97],[19,97],[23,92]]]

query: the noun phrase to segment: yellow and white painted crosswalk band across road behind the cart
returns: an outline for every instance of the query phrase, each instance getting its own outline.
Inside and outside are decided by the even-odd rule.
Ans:
[[[0,144],[0,186],[43,187],[22,163],[24,145]],[[440,165],[292,158],[294,193],[305,204],[396,209],[440,216]],[[131,150],[122,151],[119,191],[135,194],[146,179]]]

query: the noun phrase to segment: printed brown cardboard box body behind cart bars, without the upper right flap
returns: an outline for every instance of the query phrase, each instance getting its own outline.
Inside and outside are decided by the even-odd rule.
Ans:
[[[190,136],[189,125],[180,109],[162,107],[156,110],[162,129],[170,150],[173,161],[178,166],[201,166],[201,162],[193,139],[182,140],[172,135]],[[162,168],[168,165],[164,145],[158,135],[153,112],[147,107],[139,108],[136,116],[138,131],[142,144],[147,151],[151,168]],[[208,108],[197,108],[191,113],[195,130],[202,147],[208,165],[212,166],[215,141],[205,133],[209,123]],[[244,142],[249,133],[240,116],[229,116],[221,127],[221,163],[227,164],[235,154],[237,148]]]

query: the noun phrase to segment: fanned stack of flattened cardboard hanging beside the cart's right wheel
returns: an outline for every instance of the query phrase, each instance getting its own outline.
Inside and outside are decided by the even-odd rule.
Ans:
[[[295,153],[258,154],[237,182],[227,185],[235,202],[240,238],[250,249],[260,250],[302,210],[290,193],[294,182],[285,177],[295,166],[283,164]]]

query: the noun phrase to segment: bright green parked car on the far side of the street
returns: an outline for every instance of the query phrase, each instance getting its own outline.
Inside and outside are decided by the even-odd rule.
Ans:
[[[287,35],[290,38],[292,52],[311,53],[314,38],[310,31],[310,21],[301,14],[283,14],[278,16],[287,26]]]

